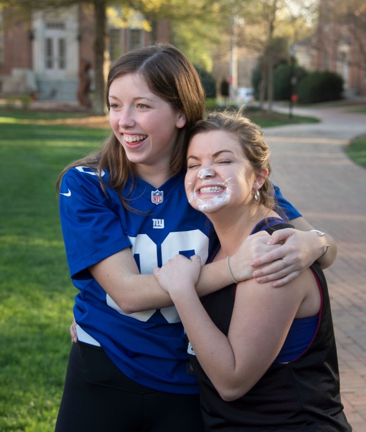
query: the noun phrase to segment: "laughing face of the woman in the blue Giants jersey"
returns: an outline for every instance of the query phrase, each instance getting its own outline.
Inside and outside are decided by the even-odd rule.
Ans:
[[[183,112],[152,93],[138,74],[115,79],[109,87],[109,122],[137,173],[148,166],[169,167]]]

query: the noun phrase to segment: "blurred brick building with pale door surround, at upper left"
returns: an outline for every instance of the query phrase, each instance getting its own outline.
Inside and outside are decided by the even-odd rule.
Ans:
[[[133,28],[108,24],[106,72],[123,53],[151,41],[139,21],[137,15]],[[157,22],[156,39],[170,42],[167,21]],[[94,41],[94,12],[86,3],[37,11],[28,19],[0,10],[0,95],[37,93],[43,101],[76,102],[81,60],[91,62],[93,82]]]

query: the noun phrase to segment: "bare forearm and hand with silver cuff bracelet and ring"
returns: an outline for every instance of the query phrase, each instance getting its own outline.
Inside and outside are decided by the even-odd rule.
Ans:
[[[337,246],[329,234],[321,237],[317,232],[310,232],[314,228],[303,217],[293,219],[290,223],[296,230],[286,228],[275,231],[268,242],[285,244],[253,260],[252,267],[264,266],[253,272],[257,282],[276,281],[273,286],[282,287],[314,261],[318,261],[322,268],[333,264],[337,256]],[[330,246],[326,254],[319,258],[325,252],[325,245]],[[286,267],[282,260],[287,263]]]

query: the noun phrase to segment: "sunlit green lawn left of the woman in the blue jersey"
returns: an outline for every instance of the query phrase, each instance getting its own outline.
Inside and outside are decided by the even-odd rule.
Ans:
[[[9,122],[24,115],[0,112]],[[0,124],[1,432],[54,431],[77,293],[68,275],[55,183],[65,165],[104,136],[101,129]]]

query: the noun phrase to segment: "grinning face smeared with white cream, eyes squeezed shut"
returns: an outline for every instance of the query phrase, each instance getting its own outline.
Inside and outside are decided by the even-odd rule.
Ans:
[[[255,175],[235,135],[221,130],[195,135],[188,148],[185,192],[190,205],[203,213],[224,206],[244,209],[264,181]]]

